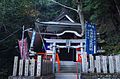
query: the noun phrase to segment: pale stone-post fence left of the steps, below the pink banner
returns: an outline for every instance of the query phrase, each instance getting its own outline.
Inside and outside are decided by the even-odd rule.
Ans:
[[[53,77],[51,61],[42,60],[41,56],[38,56],[37,60],[34,58],[23,60],[15,56],[13,75],[9,79],[17,79],[18,77],[19,79],[48,79],[42,78],[47,76]]]

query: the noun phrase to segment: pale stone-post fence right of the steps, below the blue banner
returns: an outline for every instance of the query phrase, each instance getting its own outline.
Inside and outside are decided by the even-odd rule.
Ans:
[[[86,79],[96,79],[97,77],[120,78],[120,55],[87,56],[87,54],[83,54],[81,56],[82,76]]]

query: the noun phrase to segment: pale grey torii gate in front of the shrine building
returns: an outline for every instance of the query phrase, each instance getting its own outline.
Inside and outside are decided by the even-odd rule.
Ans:
[[[56,48],[81,48],[80,53],[84,53],[86,50],[86,39],[44,39],[47,43],[50,43],[48,46],[52,49],[52,63],[53,63],[53,73],[55,73],[55,59],[56,59]],[[59,45],[60,43],[65,43],[66,46]],[[71,45],[79,44],[79,45]]]

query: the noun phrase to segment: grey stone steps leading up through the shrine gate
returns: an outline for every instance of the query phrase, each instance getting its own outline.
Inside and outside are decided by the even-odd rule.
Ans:
[[[61,61],[60,73],[55,74],[55,79],[77,79],[76,62]]]

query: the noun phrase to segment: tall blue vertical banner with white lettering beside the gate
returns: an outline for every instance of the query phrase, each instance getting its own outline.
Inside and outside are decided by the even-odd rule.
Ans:
[[[86,23],[86,52],[96,53],[96,26],[90,23]]]

